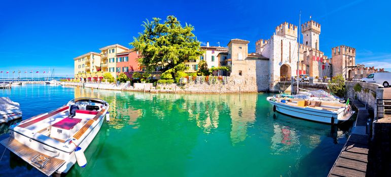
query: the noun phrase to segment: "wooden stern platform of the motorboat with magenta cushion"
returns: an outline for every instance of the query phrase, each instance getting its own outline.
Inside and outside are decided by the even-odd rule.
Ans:
[[[10,151],[21,157],[24,161],[26,161],[28,164],[34,166],[41,172],[45,173],[46,175],[50,176],[53,174],[59,167],[61,167],[62,164],[65,163],[64,160],[57,159],[50,157],[48,155],[42,154],[38,151],[35,151],[21,143],[19,143],[15,139],[10,138],[4,139],[0,143],[7,147]],[[36,159],[37,162],[33,162],[33,159]],[[43,159],[47,158],[47,162],[45,162]],[[39,161],[41,160],[41,161]],[[44,166],[41,168],[41,166]]]

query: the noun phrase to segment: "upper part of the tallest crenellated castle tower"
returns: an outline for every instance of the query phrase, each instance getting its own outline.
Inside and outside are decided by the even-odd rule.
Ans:
[[[313,49],[319,50],[319,34],[321,34],[321,24],[311,20],[301,25],[303,43]]]

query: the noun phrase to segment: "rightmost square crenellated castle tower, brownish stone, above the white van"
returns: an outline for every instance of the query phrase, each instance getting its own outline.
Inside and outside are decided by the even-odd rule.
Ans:
[[[345,78],[352,78],[353,74],[349,75],[349,71],[353,69],[351,66],[356,66],[356,49],[342,45],[332,48],[331,55],[333,76],[342,74]]]

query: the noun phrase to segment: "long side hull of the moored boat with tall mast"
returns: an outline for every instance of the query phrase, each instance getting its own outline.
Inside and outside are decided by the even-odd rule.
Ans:
[[[275,106],[275,111],[283,114],[322,123],[338,123],[338,113],[331,111],[313,110],[310,108],[293,107],[283,103],[271,101],[269,98],[267,101],[273,107]]]

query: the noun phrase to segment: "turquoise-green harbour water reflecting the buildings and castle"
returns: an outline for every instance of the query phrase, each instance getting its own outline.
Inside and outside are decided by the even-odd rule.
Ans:
[[[110,103],[86,149],[88,165],[67,176],[325,176],[348,129],[273,113],[271,94],[174,95],[22,85],[0,90],[23,119],[75,97]],[[8,137],[1,125],[0,139]],[[4,147],[0,147],[3,153]],[[0,176],[43,176],[6,151]]]

